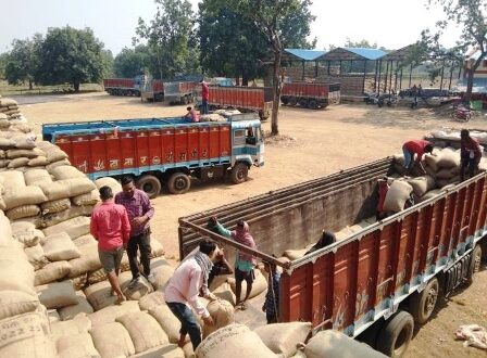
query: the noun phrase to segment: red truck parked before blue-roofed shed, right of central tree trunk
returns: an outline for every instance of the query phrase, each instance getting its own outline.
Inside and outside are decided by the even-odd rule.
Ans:
[[[285,82],[280,102],[310,110],[325,108],[328,104],[340,102],[340,84]]]

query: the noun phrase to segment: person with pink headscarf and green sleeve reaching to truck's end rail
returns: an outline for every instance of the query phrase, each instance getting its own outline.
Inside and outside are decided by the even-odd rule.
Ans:
[[[249,231],[249,225],[244,220],[237,221],[237,228],[234,231],[225,229],[216,218],[213,218],[215,222],[215,230],[218,230],[222,236],[232,238],[239,244],[246,245],[250,248],[257,250],[255,242]],[[237,251],[235,259],[235,294],[237,296],[236,307],[241,310],[246,310],[246,302],[249,299],[250,292],[252,291],[253,280],[255,279],[253,273],[253,267],[255,266],[255,259],[250,254],[244,254]],[[247,292],[244,301],[241,301],[241,282],[247,282]]]

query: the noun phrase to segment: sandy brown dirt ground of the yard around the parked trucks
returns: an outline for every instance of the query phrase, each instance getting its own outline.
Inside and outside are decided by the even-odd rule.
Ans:
[[[93,119],[147,118],[185,114],[185,106],[140,103],[137,98],[115,98],[104,93],[65,95],[61,100],[22,106],[22,112],[40,132],[40,124]],[[25,103],[24,102],[24,103]],[[421,138],[441,127],[462,128],[441,111],[404,107],[378,108],[364,104],[341,104],[324,111],[283,107],[282,136],[269,140],[265,166],[252,168],[250,179],[239,186],[221,180],[192,182],[184,195],[164,192],[153,201],[153,238],[165,247],[166,256],[177,258],[177,219],[249,196],[329,175],[401,151],[405,140]],[[263,124],[270,130],[270,122]],[[486,129],[487,116],[475,116],[469,128]],[[460,324],[487,327],[487,271],[471,287],[450,301],[415,334],[405,357],[486,357],[476,348],[464,348],[454,341]]]

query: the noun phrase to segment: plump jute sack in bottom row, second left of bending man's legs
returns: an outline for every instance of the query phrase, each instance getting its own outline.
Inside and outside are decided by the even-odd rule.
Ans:
[[[118,317],[115,321],[122,323],[127,330],[134,343],[135,353],[141,353],[170,343],[167,334],[164,333],[158,321],[149,314],[126,314]]]

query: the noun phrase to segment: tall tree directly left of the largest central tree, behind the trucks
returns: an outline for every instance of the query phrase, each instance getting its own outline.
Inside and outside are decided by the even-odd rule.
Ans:
[[[193,38],[193,13],[188,0],[155,0],[158,10],[150,24],[139,18],[137,40],[147,40],[160,78],[198,69]]]

